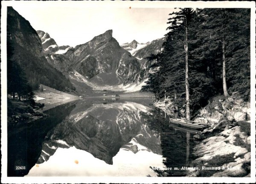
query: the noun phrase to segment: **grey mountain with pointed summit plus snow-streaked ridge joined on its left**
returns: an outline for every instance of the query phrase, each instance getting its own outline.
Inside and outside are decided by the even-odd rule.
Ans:
[[[66,46],[65,52],[62,53],[58,50],[61,47],[55,44],[49,34],[44,31],[38,31],[38,34],[41,41],[47,44],[44,47],[47,61],[63,73],[67,74],[75,70],[87,79],[94,77],[93,82],[98,85],[105,83],[102,82],[102,75],[108,78],[105,74],[113,74],[109,75],[113,79],[107,82],[108,85],[134,82],[139,77],[140,62],[119,46],[119,43],[112,37],[112,30],[94,37],[89,42],[77,45],[75,48]]]

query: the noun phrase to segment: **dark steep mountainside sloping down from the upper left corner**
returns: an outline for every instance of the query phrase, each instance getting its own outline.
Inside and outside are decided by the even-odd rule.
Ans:
[[[7,8],[7,50],[25,71],[32,86],[39,83],[60,91],[74,89],[68,79],[53,68],[42,53],[43,46],[35,29],[12,7]]]

